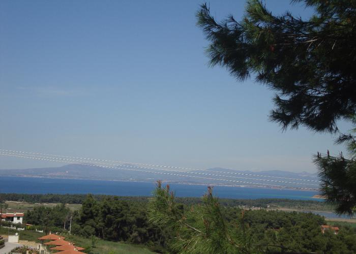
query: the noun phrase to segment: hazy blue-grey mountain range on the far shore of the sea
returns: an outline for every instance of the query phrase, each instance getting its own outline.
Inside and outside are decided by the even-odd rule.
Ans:
[[[70,164],[55,168],[35,169],[8,169],[0,170],[3,176],[46,177],[67,179],[95,179],[155,182],[160,179],[164,182],[205,184],[205,185],[240,185],[240,186],[303,186],[316,188],[316,182],[293,179],[318,180],[316,174],[307,172],[293,173],[287,171],[236,171],[224,168],[212,168],[206,171],[179,170],[179,169],[150,169],[139,168],[132,165],[114,166],[121,169],[110,169],[97,166]],[[185,171],[185,172],[179,172]],[[151,173],[156,172],[156,173]],[[274,177],[268,177],[274,176]],[[293,178],[293,179],[284,179]],[[301,185],[300,183],[305,183]],[[277,185],[277,186],[273,186]]]

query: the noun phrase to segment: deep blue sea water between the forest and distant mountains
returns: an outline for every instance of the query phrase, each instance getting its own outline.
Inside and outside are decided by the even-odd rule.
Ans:
[[[177,197],[201,197],[207,190],[205,185],[170,183],[169,185]],[[0,176],[0,193],[151,196],[155,187],[156,184],[150,182]],[[308,190],[214,186],[213,194],[219,198],[229,199],[276,198],[322,201],[313,198],[317,192]],[[312,212],[330,218],[340,217],[331,212]]]

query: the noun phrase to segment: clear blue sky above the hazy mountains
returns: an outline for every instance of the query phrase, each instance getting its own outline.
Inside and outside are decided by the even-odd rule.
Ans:
[[[2,1],[0,148],[182,167],[315,172],[330,134],[281,132],[273,91],[210,68],[201,1]],[[210,1],[240,20],[245,1]],[[311,10],[269,0],[273,13]],[[341,123],[347,130],[347,124]],[[57,166],[0,157],[0,169]]]

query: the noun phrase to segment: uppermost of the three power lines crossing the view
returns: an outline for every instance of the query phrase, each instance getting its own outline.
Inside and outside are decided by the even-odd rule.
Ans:
[[[280,176],[246,174],[246,173],[238,173],[238,172],[213,171],[213,170],[205,170],[205,169],[182,168],[182,167],[153,165],[153,164],[144,164],[144,163],[133,163],[133,162],[123,162],[123,161],[110,161],[110,160],[102,160],[102,159],[97,159],[97,158],[85,158],[85,157],[75,157],[75,156],[67,156],[67,155],[55,155],[55,154],[47,154],[47,153],[39,153],[39,152],[25,152],[25,151],[15,151],[15,150],[6,150],[6,149],[0,149],[0,151],[16,152],[16,153],[23,153],[23,154],[38,154],[38,155],[48,155],[48,156],[56,156],[56,157],[75,158],[75,159],[79,159],[79,160],[90,160],[90,161],[133,164],[133,165],[141,165],[141,166],[148,166],[148,167],[159,167],[159,168],[169,168],[169,169],[183,169],[183,170],[193,170],[193,171],[205,171],[205,172],[214,172],[214,173],[222,173],[222,174],[247,175],[247,176],[257,176],[257,177],[269,177],[269,178],[288,179],[288,180],[296,180],[296,181],[321,182],[319,180],[310,180],[310,179],[301,179],[301,178],[290,178],[290,177],[280,177]]]

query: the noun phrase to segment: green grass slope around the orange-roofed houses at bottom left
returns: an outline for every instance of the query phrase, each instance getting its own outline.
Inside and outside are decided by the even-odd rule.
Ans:
[[[15,233],[20,234],[20,240],[27,240],[27,241],[35,241],[39,242],[37,238],[44,236],[44,233],[39,233],[35,231],[16,231],[16,230],[10,230],[7,228],[1,228],[0,229],[0,235],[14,235]],[[146,246],[144,245],[136,245],[136,244],[127,244],[123,242],[111,242],[111,241],[105,241],[98,239],[96,246],[93,248],[92,246],[92,240],[88,238],[83,238],[80,236],[73,236],[73,235],[64,235],[66,237],[66,240],[74,242],[77,246],[83,247],[87,250],[91,250],[92,253],[133,253],[133,254],[146,254],[146,253],[154,253],[151,250],[149,250]]]

